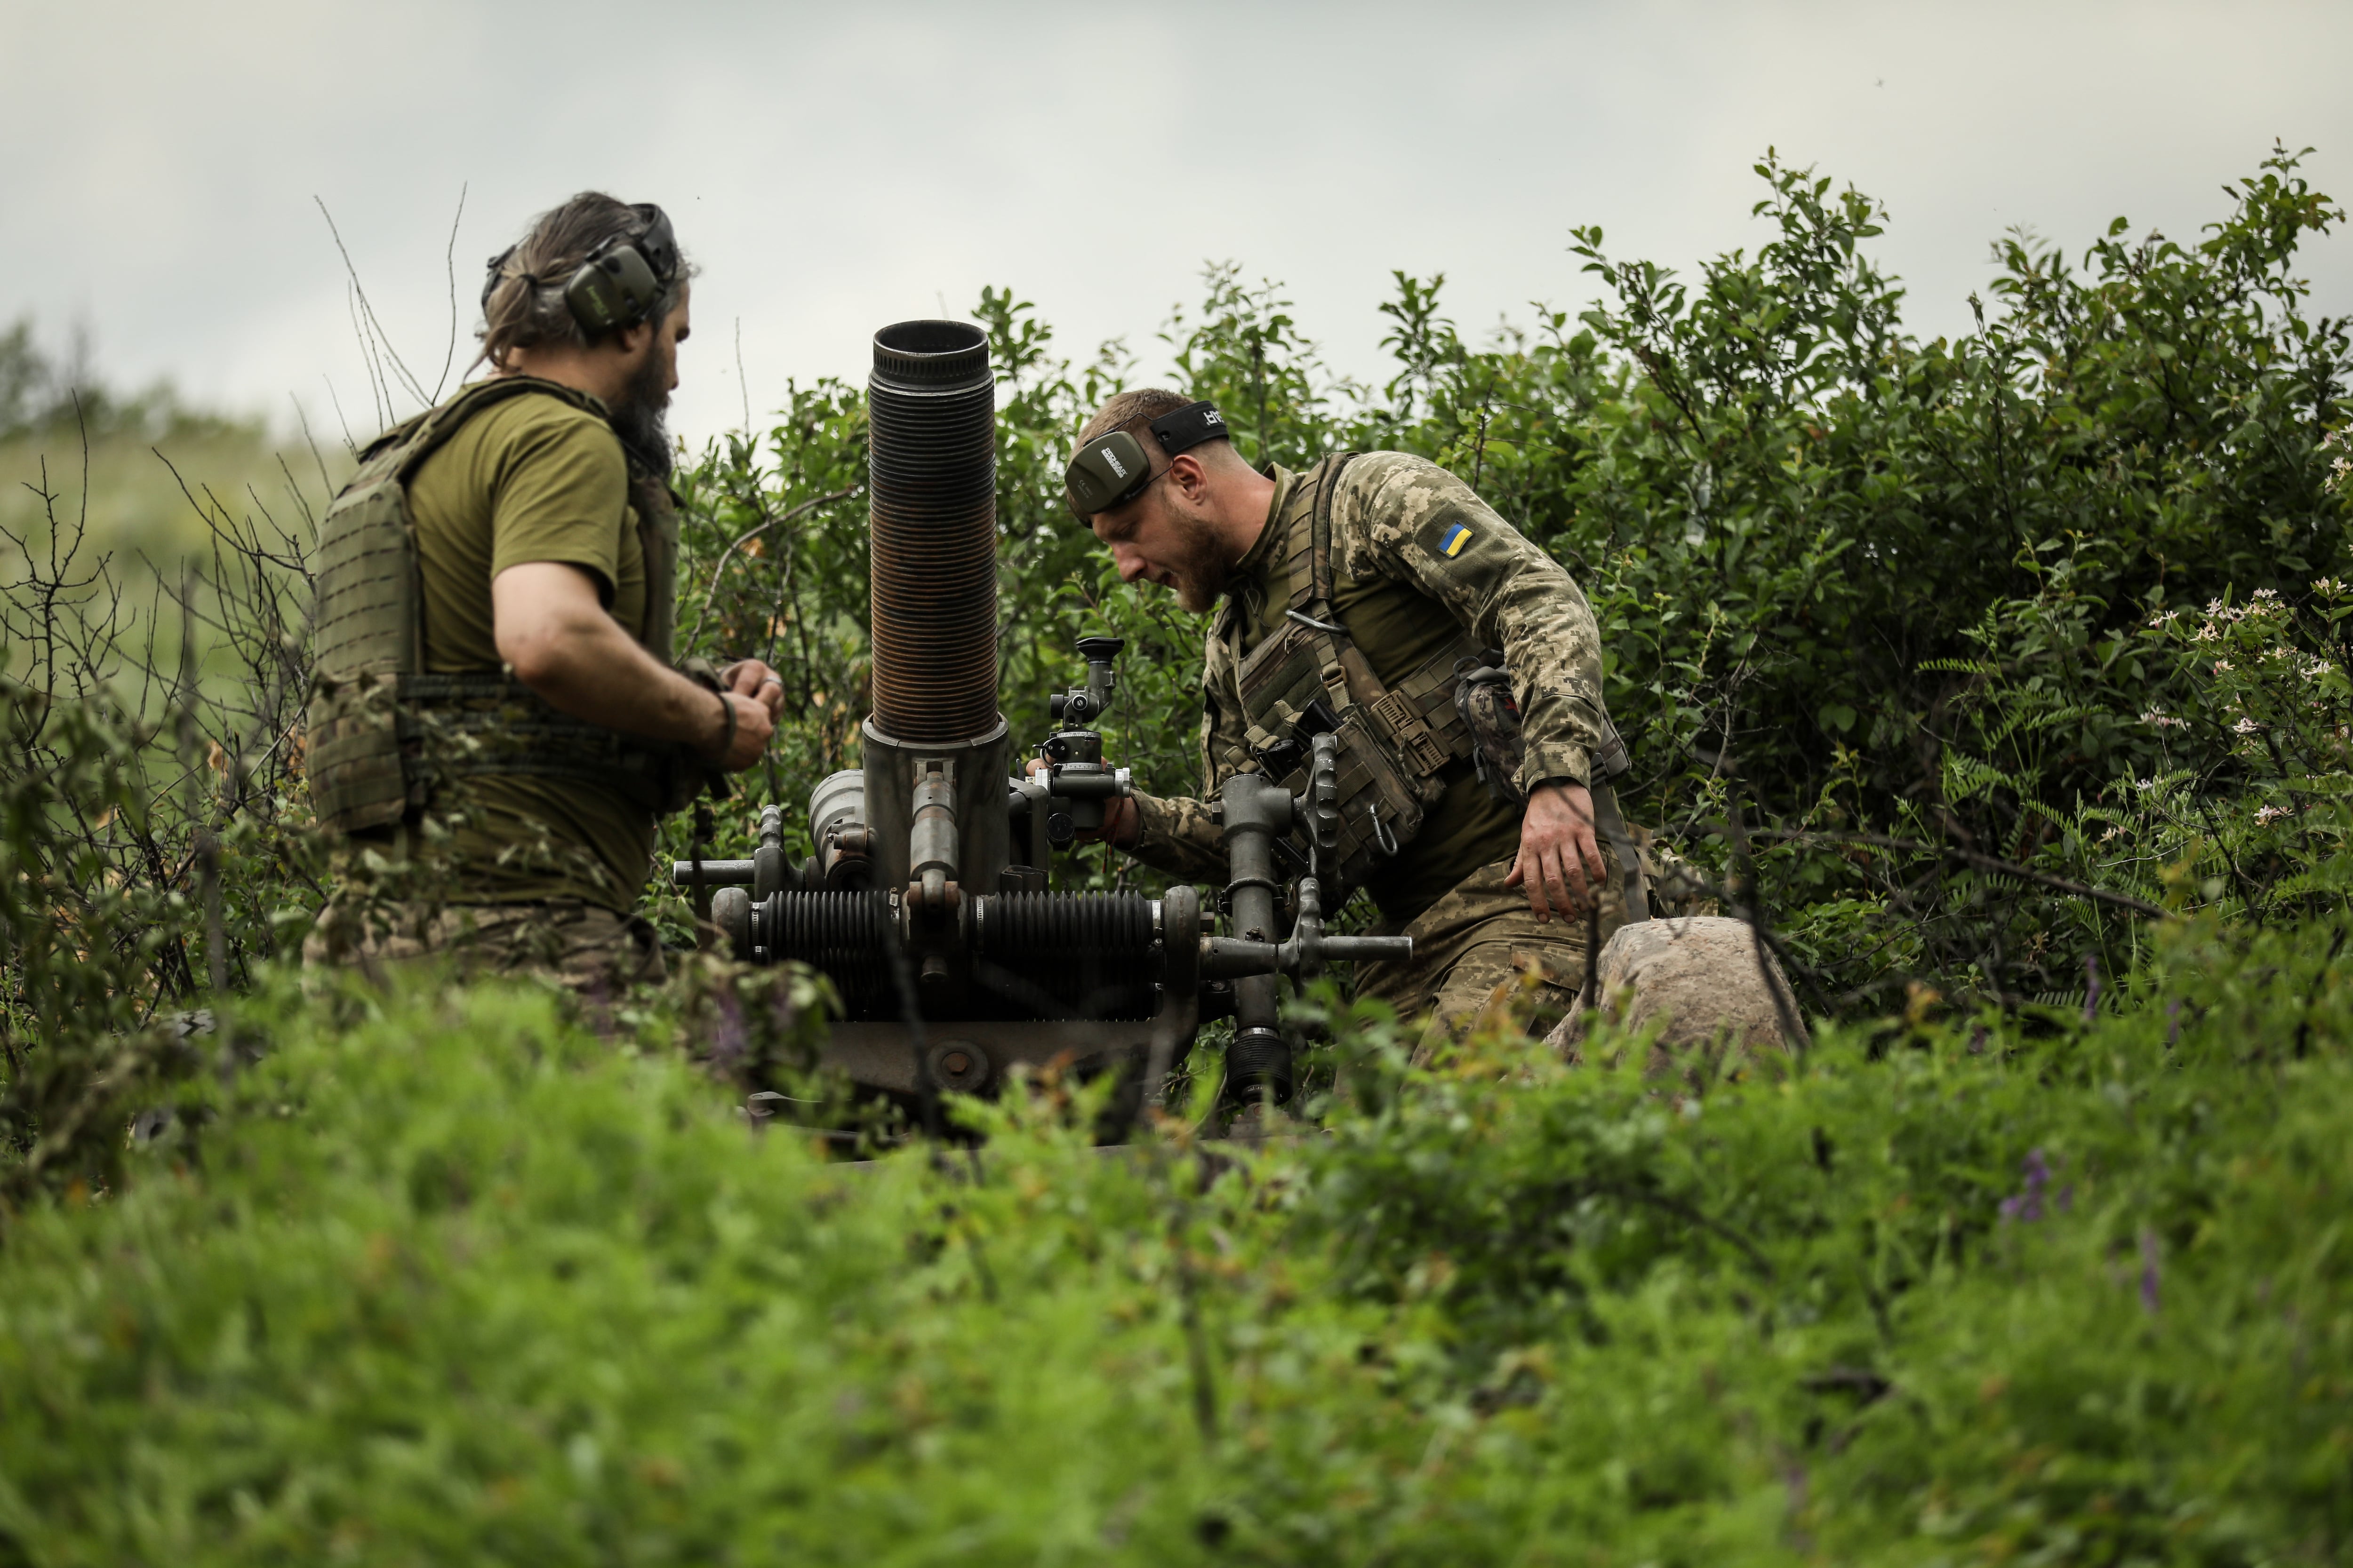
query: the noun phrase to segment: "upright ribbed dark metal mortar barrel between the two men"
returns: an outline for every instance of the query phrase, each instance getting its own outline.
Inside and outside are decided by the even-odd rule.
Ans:
[[[873,717],[955,745],[998,724],[998,421],[988,336],[967,322],[875,334]]]

